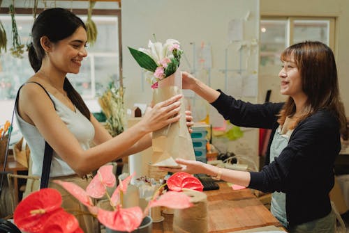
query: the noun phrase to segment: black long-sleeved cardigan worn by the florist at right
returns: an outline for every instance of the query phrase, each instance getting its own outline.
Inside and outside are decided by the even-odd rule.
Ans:
[[[339,122],[330,111],[320,110],[300,122],[279,157],[269,163],[270,144],[279,127],[276,115],[283,103],[251,104],[221,93],[211,104],[232,124],[273,130],[267,163],[260,172],[250,172],[248,188],[285,193],[290,227],[329,214],[334,159],[341,150]]]

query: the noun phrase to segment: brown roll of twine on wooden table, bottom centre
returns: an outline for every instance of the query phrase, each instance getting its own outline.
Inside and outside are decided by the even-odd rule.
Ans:
[[[174,233],[205,233],[208,232],[207,195],[199,191],[184,191],[191,197],[193,207],[174,209]]]

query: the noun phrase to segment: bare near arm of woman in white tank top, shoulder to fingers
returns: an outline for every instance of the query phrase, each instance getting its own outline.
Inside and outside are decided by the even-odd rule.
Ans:
[[[27,121],[36,126],[47,143],[70,168],[78,175],[84,175],[109,161],[119,159],[126,150],[151,131],[177,122],[180,117],[180,98],[181,95],[177,95],[156,104],[140,122],[114,138],[103,133],[104,129],[92,118],[92,124],[97,126],[95,139],[103,143],[89,150],[82,149],[75,136],[57,115],[50,98],[37,85],[28,84],[22,88],[19,109],[22,118],[29,119]],[[110,140],[107,140],[108,138]]]

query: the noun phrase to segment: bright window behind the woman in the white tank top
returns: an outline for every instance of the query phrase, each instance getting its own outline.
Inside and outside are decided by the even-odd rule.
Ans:
[[[86,17],[80,16],[85,22]],[[17,29],[22,44],[30,42],[33,25],[31,15],[16,15]],[[93,16],[98,36],[94,46],[87,48],[88,56],[84,59],[79,74],[67,74],[68,79],[82,95],[83,99],[94,99],[105,90],[110,81],[119,78],[119,29],[117,16]],[[0,56],[0,100],[13,99],[17,89],[34,74],[27,51],[23,58],[14,58],[10,54],[12,45],[10,15],[0,15],[0,20],[8,38],[7,52]]]

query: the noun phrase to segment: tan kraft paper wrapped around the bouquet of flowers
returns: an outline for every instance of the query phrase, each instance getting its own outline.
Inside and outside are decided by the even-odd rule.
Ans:
[[[154,89],[153,93],[154,104],[181,93],[181,72],[177,70],[170,77],[159,81],[158,88]],[[179,165],[174,159],[195,160],[193,142],[186,127],[183,98],[181,99],[180,114],[179,122],[153,132],[153,155],[151,158],[153,166],[178,167]]]

